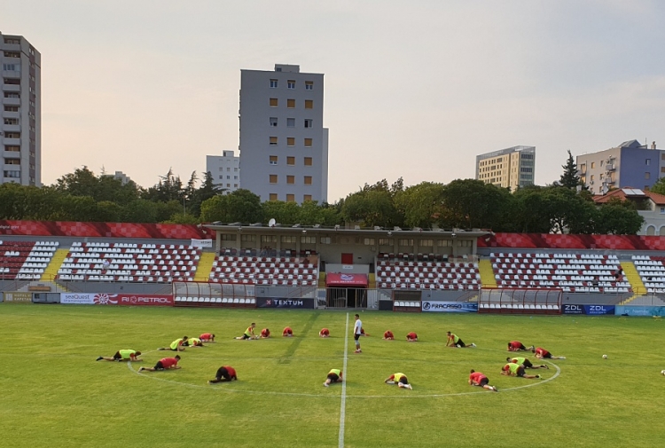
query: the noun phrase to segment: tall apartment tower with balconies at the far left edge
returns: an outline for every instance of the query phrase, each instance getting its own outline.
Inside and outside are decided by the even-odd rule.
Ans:
[[[42,56],[22,35],[0,33],[3,121],[0,184],[42,185]]]

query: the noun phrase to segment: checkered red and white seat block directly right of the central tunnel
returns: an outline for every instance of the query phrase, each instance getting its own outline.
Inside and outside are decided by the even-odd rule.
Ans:
[[[377,287],[389,289],[479,289],[481,276],[476,263],[439,261],[377,262]]]

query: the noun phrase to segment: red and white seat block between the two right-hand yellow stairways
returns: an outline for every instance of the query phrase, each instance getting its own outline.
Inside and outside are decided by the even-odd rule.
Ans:
[[[498,287],[561,288],[566,292],[627,293],[630,283],[616,277],[616,255],[490,254]]]

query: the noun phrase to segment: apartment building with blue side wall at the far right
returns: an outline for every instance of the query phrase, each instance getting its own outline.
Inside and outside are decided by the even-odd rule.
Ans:
[[[648,190],[665,176],[665,151],[656,142],[642,145],[628,140],[621,145],[575,158],[580,180],[591,193],[605,194],[614,188]]]

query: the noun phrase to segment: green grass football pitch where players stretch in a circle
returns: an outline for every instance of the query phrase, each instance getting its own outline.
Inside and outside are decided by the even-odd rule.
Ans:
[[[661,446],[665,322],[655,318],[505,317],[363,312],[363,353],[348,338],[347,447]],[[0,446],[335,447],[347,313],[0,304]],[[277,337],[235,341],[250,322]],[[349,313],[349,331],[353,312]],[[291,326],[293,338],[282,338]],[[320,339],[322,327],[330,339]],[[397,341],[383,341],[391,329]],[[475,349],[446,349],[451,330]],[[182,369],[137,373],[171,354],[157,347],[210,331]],[[403,340],[415,331],[419,342]],[[565,360],[544,380],[499,374],[506,342]],[[143,363],[95,362],[116,350]],[[608,359],[602,359],[607,354]],[[528,354],[532,361],[533,356]],[[536,364],[536,363],[535,363]],[[220,365],[239,381],[207,385]],[[468,386],[469,370],[498,393]],[[406,373],[413,390],[388,386]],[[529,386],[529,387],[524,387]]]

